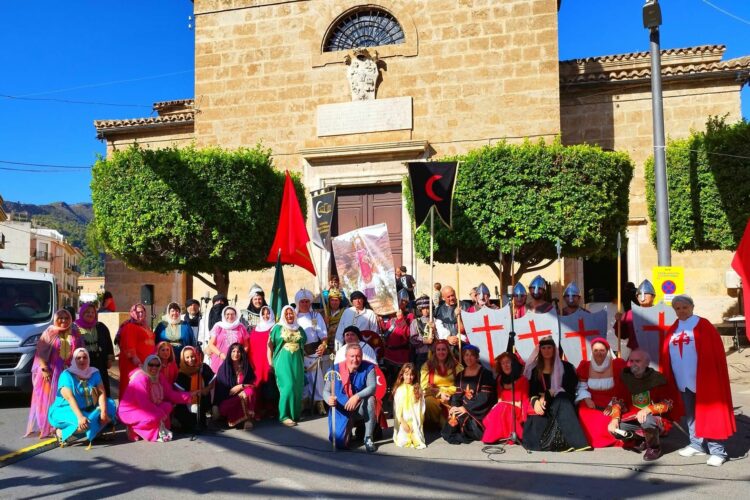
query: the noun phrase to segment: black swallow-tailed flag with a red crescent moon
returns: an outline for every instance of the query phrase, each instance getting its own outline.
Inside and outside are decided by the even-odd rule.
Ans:
[[[411,192],[414,195],[414,221],[419,227],[435,211],[443,223],[451,227],[453,212],[453,190],[456,187],[458,162],[414,161],[407,163]]]

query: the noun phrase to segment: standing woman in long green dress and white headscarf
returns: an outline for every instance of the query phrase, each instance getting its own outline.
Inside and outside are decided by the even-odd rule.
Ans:
[[[302,412],[305,380],[302,348],[306,342],[305,331],[297,325],[297,313],[284,306],[268,338],[268,364],[276,373],[279,386],[279,420],[287,427],[297,425]]]

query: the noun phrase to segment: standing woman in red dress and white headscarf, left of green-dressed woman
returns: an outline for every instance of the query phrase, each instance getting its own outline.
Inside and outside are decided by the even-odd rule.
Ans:
[[[255,419],[275,418],[279,405],[279,390],[271,365],[268,364],[268,338],[274,323],[273,311],[268,306],[260,309],[260,319],[250,332],[250,365],[255,372]]]

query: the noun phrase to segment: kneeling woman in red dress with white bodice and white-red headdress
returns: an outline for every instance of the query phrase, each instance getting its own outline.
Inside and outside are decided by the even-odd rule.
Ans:
[[[622,446],[622,441],[610,434],[607,426],[611,416],[604,414],[613,398],[627,400],[628,391],[620,374],[627,363],[621,358],[612,358],[609,343],[597,337],[591,341],[592,360],[583,360],[578,365],[578,419],[583,433],[593,448]]]

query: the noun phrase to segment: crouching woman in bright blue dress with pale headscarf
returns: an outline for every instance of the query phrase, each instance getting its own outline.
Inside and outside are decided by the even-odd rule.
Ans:
[[[73,363],[60,374],[57,398],[49,409],[60,446],[72,438],[86,437],[89,448],[110,422],[114,424],[115,402],[107,397],[99,370],[91,366],[88,351],[73,351]]]

